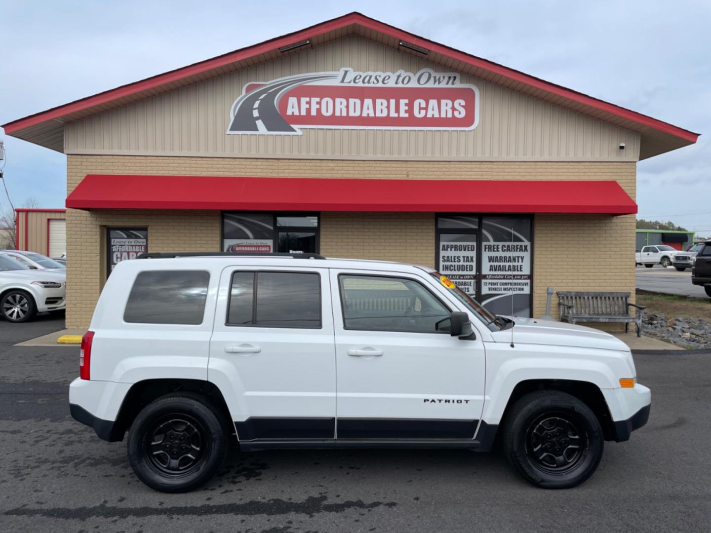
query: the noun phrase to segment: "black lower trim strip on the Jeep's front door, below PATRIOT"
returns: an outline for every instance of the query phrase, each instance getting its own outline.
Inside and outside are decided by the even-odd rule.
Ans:
[[[338,419],[338,439],[472,439],[479,420]]]

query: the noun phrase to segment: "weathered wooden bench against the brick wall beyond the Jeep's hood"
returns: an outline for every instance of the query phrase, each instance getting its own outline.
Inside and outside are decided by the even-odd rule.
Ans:
[[[629,324],[637,327],[641,335],[644,306],[629,302],[629,292],[558,291],[560,321],[565,318],[571,324],[580,322],[624,322],[625,333]],[[636,309],[630,316],[629,308]]]

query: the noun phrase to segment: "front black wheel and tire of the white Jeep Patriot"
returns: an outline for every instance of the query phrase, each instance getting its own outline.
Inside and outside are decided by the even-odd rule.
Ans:
[[[519,399],[506,416],[502,436],[506,457],[518,473],[529,483],[550,489],[587,480],[604,447],[602,427],[592,410],[557,391],[531,392]],[[572,442],[579,442],[579,447]],[[552,447],[550,453],[546,446]]]

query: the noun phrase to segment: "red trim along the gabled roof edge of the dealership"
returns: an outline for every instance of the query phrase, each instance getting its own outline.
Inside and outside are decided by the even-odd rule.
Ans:
[[[284,45],[294,43],[295,41],[304,40],[307,38],[313,38],[314,36],[320,35],[322,33],[327,33],[328,31],[333,31],[338,28],[343,28],[350,24],[357,23],[360,26],[369,28],[373,31],[379,31],[385,35],[391,36],[393,38],[401,39],[402,41],[407,41],[414,45],[422,46],[433,52],[440,53],[442,55],[447,55],[451,58],[461,60],[464,63],[473,65],[478,68],[483,68],[490,72],[508,77],[512,80],[537,87],[539,89],[545,90],[547,92],[552,92],[555,95],[572,99],[575,102],[581,104],[589,105],[600,109],[605,112],[615,114],[624,119],[629,119],[638,124],[643,124],[644,126],[649,126],[653,129],[663,131],[665,133],[678,136],[681,139],[687,141],[696,142],[696,139],[700,134],[696,134],[693,131],[674,126],[673,124],[668,124],[668,122],[663,122],[647,115],[632,111],[631,109],[626,109],[604,100],[597,99],[588,95],[584,95],[582,92],[577,92],[561,85],[555,85],[554,83],[541,80],[538,77],[533,77],[518,70],[512,68],[504,67],[498,63],[493,63],[486,59],[478,58],[475,55],[461,52],[461,50],[456,50],[455,48],[450,48],[449,46],[435,43],[434,41],[429,41],[428,39],[415,36],[412,33],[403,31],[395,26],[390,26],[389,24],[375,20],[374,18],[367,17],[358,12],[353,12],[347,15],[340,16],[338,18],[332,18],[329,21],[316,24],[314,26],[309,26],[301,31],[296,31],[294,33],[287,33],[287,35],[270,39],[269,41],[264,41],[262,43],[248,46],[247,48],[240,48],[240,50],[235,50],[234,52],[226,53],[223,55],[218,55],[216,58],[201,61],[200,63],[194,63],[193,65],[188,65],[187,67],[178,68],[176,70],[171,70],[165,72],[164,74],[156,75],[153,77],[146,78],[138,82],[130,83],[128,85],[122,85],[116,89],[108,90],[105,92],[100,92],[97,95],[90,97],[85,97],[75,102],[70,102],[69,104],[64,104],[59,107],[53,107],[47,111],[40,112],[37,114],[30,115],[23,119],[18,119],[13,122],[8,122],[3,127],[7,134],[17,131],[18,129],[26,128],[28,126],[33,126],[34,124],[39,124],[40,122],[45,122],[50,119],[55,119],[63,116],[64,114],[69,114],[72,112],[80,111],[81,109],[86,109],[87,107],[92,107],[98,104],[109,102],[112,99],[117,99],[131,95],[134,92],[139,92],[142,90],[150,89],[158,85],[163,85],[164,83],[169,83],[172,81],[180,80],[183,77],[188,77],[191,75],[199,74],[205,70],[210,70],[212,68],[217,68],[228,63],[234,63],[235,61],[242,60],[244,58],[252,57],[253,55],[258,55],[260,53],[269,52],[275,48],[280,48]]]

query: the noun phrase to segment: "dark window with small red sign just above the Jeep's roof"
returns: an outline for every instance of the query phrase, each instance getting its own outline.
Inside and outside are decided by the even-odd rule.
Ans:
[[[223,213],[223,252],[319,252],[319,215]]]

